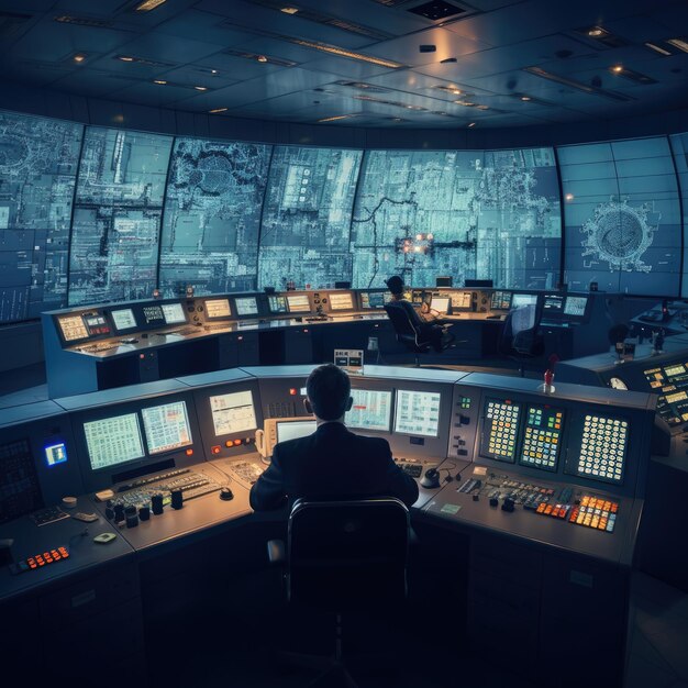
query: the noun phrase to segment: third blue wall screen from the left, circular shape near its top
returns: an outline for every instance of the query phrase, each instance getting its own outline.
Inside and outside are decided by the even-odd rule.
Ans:
[[[256,288],[271,146],[177,138],[165,199],[160,288],[179,296]]]

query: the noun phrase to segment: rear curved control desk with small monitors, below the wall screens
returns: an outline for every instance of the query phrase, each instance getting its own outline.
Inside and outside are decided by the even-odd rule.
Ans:
[[[457,360],[497,355],[503,323],[525,303],[542,313],[546,355],[606,347],[615,295],[413,289],[408,298],[447,319],[462,344]],[[384,307],[389,292],[313,290],[233,293],[84,306],[42,315],[51,398],[229,367],[315,363],[335,348],[408,356]],[[600,339],[601,337],[601,339]],[[445,357],[450,353],[445,353]]]

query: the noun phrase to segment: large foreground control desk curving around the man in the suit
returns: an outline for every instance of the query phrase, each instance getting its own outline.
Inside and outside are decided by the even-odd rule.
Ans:
[[[76,629],[97,656],[100,630],[115,619],[131,630],[118,662],[143,662],[151,629],[165,625],[163,591],[190,579],[192,596],[209,586],[196,576],[225,584],[263,557],[260,529],[282,528],[286,514],[253,514],[248,491],[269,437],[312,432],[303,408],[312,367],[234,368],[3,413],[0,540],[13,543],[0,566],[11,629],[0,640],[9,656],[26,659],[21,630],[37,614],[48,659],[67,652]],[[547,396],[528,379],[382,366],[352,376],[352,430],[386,437],[419,481],[436,468],[413,519],[468,543],[469,609],[457,623],[469,636],[508,636],[525,670],[575,661],[620,686],[655,398],[568,385]],[[65,610],[59,621],[53,609]],[[596,615],[604,640],[588,653],[573,639]],[[113,630],[112,642],[120,635]]]

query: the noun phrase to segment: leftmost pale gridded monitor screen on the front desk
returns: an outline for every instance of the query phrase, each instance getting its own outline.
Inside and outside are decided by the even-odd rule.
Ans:
[[[124,413],[84,423],[88,459],[93,470],[143,458],[138,417]]]

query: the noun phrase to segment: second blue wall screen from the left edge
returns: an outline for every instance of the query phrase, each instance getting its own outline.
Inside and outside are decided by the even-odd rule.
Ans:
[[[171,143],[171,136],[87,127],[71,234],[71,306],[151,297]]]

